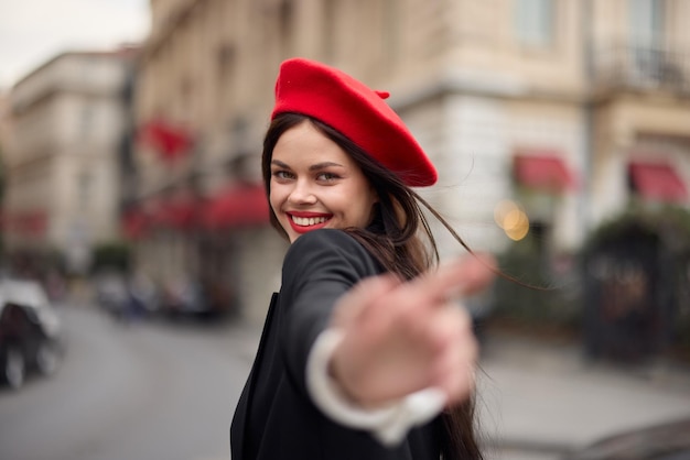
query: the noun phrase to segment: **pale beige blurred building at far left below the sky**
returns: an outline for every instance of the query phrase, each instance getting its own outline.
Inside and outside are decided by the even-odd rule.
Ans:
[[[84,273],[95,245],[120,238],[133,56],[130,47],[63,53],[12,87],[2,223],[22,270],[45,270],[46,256],[57,255]]]

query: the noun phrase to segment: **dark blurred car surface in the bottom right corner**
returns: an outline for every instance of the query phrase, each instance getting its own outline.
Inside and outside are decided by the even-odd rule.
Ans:
[[[690,459],[690,418],[610,436],[563,460],[687,459]]]

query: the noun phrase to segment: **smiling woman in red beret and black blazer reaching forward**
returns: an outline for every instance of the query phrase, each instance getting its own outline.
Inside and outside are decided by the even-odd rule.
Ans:
[[[320,63],[281,65],[262,173],[291,247],[233,419],[236,460],[482,458],[477,347],[453,297],[490,272],[431,270],[410,187],[436,171],[386,97]]]

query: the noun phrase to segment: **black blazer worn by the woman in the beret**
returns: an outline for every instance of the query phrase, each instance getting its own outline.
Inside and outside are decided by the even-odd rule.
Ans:
[[[306,391],[308,354],[327,327],[335,302],[359,280],[382,271],[341,230],[312,231],[292,243],[233,418],[234,460],[439,459],[439,417],[389,449],[368,432],[326,417]]]

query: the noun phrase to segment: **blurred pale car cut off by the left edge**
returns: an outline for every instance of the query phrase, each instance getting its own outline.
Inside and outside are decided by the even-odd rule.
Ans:
[[[62,325],[40,283],[0,281],[0,380],[20,388],[29,373],[51,375],[63,357]]]

